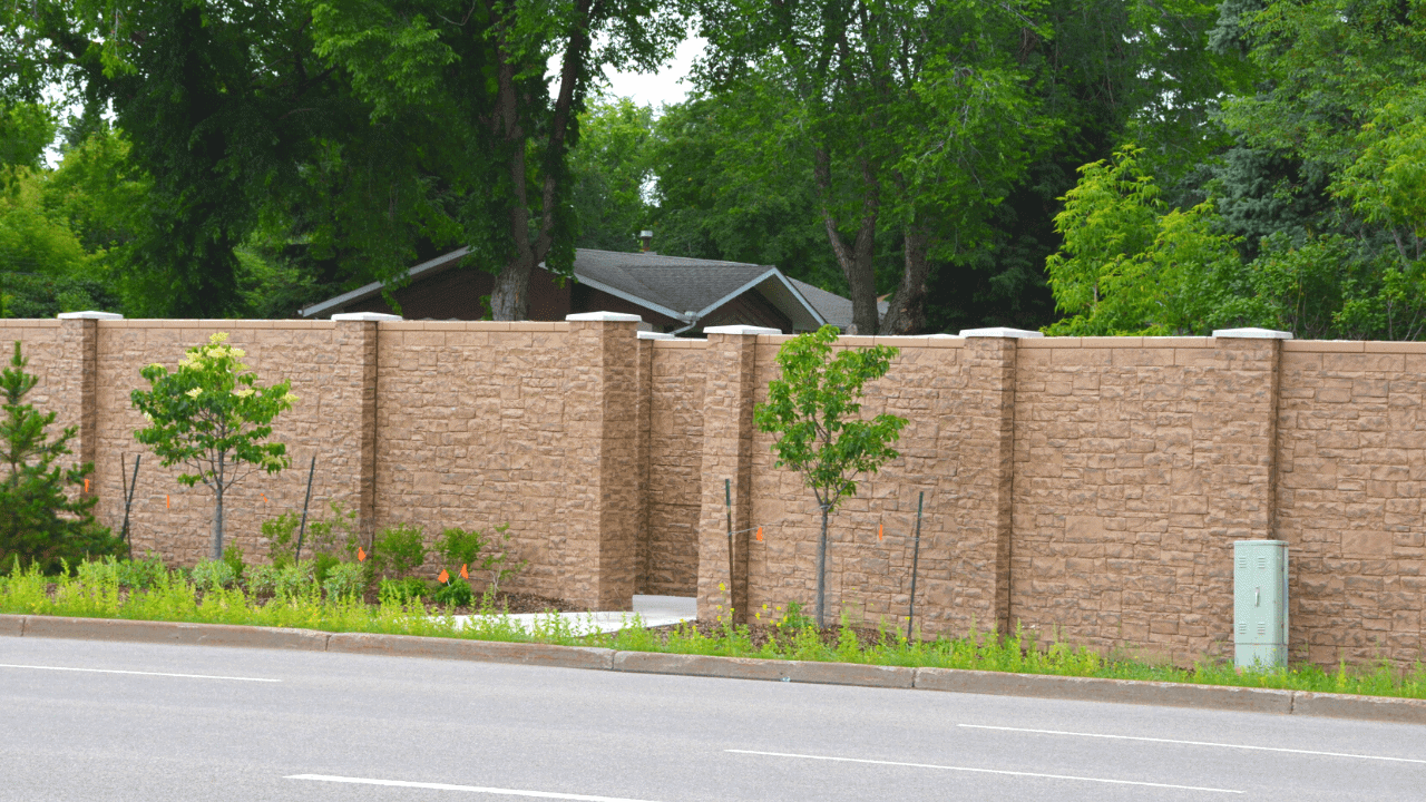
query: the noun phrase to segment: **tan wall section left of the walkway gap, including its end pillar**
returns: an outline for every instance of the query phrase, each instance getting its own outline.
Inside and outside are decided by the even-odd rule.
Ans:
[[[509,587],[589,605],[607,571],[632,577],[632,519],[600,519],[632,501],[607,497],[622,485],[606,481],[633,471],[632,324],[619,337],[602,325],[382,323],[376,527],[416,524],[434,539],[509,524],[513,557],[529,561]],[[602,527],[630,552],[602,542]]]

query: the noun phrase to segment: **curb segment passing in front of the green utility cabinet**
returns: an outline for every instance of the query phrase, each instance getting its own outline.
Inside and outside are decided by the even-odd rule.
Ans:
[[[1141,682],[1134,679],[1054,676],[1047,674],[1002,674],[998,671],[961,671],[953,668],[918,668],[915,669],[915,686],[927,691],[951,691],[957,694],[1075,699],[1081,702],[1118,702],[1125,705],[1161,705],[1281,715],[1293,712],[1293,691],[1271,688]]]

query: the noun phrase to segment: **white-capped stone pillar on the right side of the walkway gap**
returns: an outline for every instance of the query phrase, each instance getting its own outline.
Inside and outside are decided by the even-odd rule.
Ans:
[[[714,618],[717,605],[747,611],[747,529],[753,519],[753,370],[756,325],[704,328],[707,385],[703,391],[703,501],[699,512],[699,618]],[[733,554],[729,559],[729,491]]]

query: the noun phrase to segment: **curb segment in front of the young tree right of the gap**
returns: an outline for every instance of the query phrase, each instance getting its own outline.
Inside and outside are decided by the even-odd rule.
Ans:
[[[866,688],[911,688],[915,678],[914,669],[891,665],[670,655],[657,652],[617,652],[615,654],[613,669],[639,674],[676,674],[680,676],[860,685]]]

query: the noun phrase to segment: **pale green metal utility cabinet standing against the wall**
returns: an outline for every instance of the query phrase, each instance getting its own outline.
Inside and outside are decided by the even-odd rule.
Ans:
[[[1288,542],[1233,544],[1233,664],[1288,665]]]

